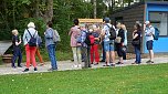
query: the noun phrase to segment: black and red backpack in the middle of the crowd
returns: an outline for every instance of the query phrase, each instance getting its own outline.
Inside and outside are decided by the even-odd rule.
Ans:
[[[86,31],[85,31],[85,33],[86,33],[86,39],[85,39],[84,42],[85,42],[87,45],[93,45],[94,42],[95,42],[94,36],[93,36],[92,33],[90,33],[90,32],[86,32]]]

